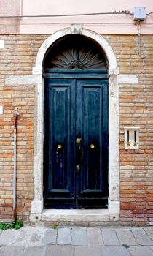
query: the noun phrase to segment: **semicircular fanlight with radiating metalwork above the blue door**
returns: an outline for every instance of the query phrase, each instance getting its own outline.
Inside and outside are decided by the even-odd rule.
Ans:
[[[58,39],[44,58],[44,72],[49,70],[107,70],[106,56],[97,42],[81,35]]]

